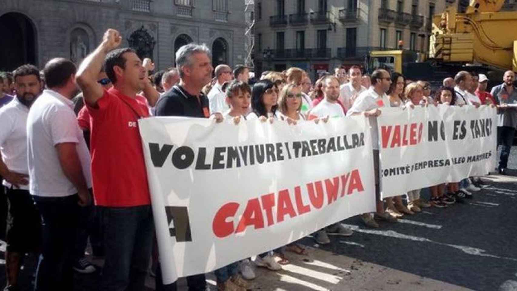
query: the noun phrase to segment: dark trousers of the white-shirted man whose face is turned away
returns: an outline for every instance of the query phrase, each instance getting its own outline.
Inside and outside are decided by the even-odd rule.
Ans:
[[[33,198],[41,214],[43,236],[34,289],[72,290],[73,251],[80,208],[78,196]]]

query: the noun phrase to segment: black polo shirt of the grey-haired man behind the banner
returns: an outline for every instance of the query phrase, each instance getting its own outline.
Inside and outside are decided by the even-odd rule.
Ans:
[[[200,93],[198,100],[181,86],[174,86],[156,103],[155,116],[209,117],[208,98]]]

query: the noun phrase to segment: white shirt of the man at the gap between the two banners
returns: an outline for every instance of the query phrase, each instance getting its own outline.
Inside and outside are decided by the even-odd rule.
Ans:
[[[348,110],[348,115],[354,113],[360,113],[369,111],[376,108],[389,107],[389,97],[386,93],[383,96],[379,96],[373,87],[363,91],[357,97],[356,101],[352,105],[352,108]],[[382,114],[382,113],[381,113]],[[370,117],[370,132],[372,135],[373,149],[379,149],[379,133],[377,132],[377,117]]]

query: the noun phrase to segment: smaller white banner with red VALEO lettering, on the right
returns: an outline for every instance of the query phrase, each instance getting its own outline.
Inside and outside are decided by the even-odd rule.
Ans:
[[[378,117],[381,196],[482,176],[494,170],[496,109],[430,105],[384,108]]]

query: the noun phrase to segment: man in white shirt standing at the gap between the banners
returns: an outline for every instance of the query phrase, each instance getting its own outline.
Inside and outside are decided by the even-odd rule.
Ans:
[[[389,106],[389,97],[386,92],[389,90],[391,85],[391,77],[388,71],[383,69],[377,69],[372,73],[372,86],[363,91],[359,97],[355,100],[352,108],[348,111],[349,115],[364,114],[364,116],[370,118],[370,132],[372,134],[373,143],[373,161],[375,171],[375,201],[377,211],[374,217],[370,213],[364,213],[362,219],[364,224],[369,227],[377,228],[379,225],[375,222],[375,219],[397,222],[397,219],[392,218],[388,213],[384,212],[384,204],[381,200],[381,192],[379,189],[379,135],[377,132],[377,116],[381,115],[379,108]]]

